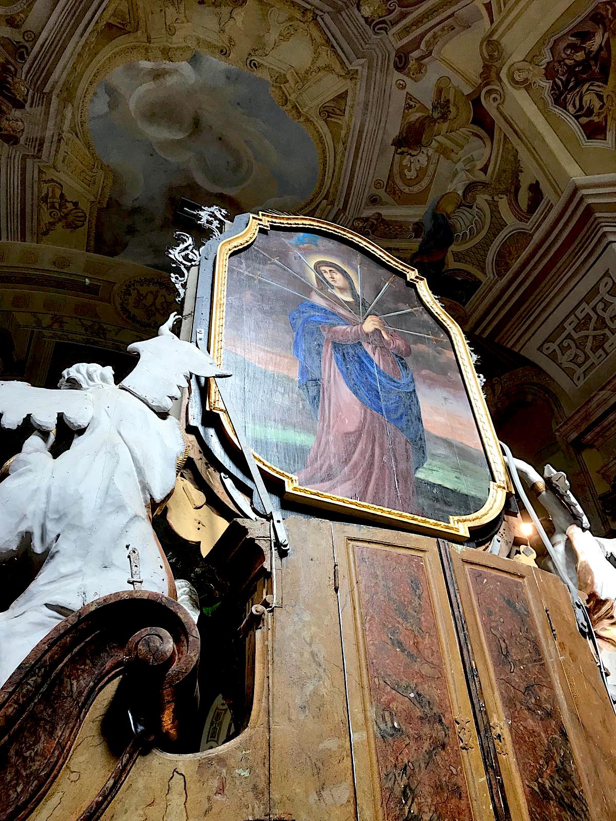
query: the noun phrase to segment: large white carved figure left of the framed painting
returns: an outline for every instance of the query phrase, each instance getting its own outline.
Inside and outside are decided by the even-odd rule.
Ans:
[[[28,552],[40,568],[0,613],[0,685],[58,621],[94,599],[138,587],[175,598],[150,521],[185,451],[168,410],[189,374],[228,375],[172,334],[175,319],[128,347],[140,360],[120,385],[111,368],[84,363],[63,372],[60,390],[0,382],[2,428],[30,416],[35,429],[0,481],[0,561]],[[58,415],[75,435],[54,458]]]

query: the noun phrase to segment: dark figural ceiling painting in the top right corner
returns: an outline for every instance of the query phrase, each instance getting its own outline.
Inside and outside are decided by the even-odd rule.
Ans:
[[[576,131],[582,145],[614,148],[616,120],[616,2],[598,2],[568,30],[554,37],[541,85],[549,108]]]

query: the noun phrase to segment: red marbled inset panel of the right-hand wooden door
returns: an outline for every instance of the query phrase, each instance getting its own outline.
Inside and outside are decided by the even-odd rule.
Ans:
[[[467,572],[531,819],[586,821],[591,816],[524,583],[475,567]]]

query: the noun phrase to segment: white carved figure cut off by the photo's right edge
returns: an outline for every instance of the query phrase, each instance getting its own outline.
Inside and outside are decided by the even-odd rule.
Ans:
[[[591,534],[586,514],[572,495],[564,473],[546,465],[542,478],[526,462],[514,461],[524,484],[549,513],[554,525],[549,540],[560,566],[586,596],[601,659],[609,672],[609,692],[616,700],[616,567],[607,558],[616,553],[616,539],[599,539]],[[550,560],[542,566],[554,571]]]

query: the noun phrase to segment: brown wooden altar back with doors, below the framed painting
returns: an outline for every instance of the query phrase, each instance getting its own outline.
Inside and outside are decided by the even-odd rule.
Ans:
[[[246,640],[247,727],[204,753],[142,755],[100,817],[616,817],[616,719],[558,579],[424,536],[286,524],[281,606]],[[266,531],[237,532],[213,561],[252,555],[253,584],[248,543]],[[246,608],[262,594],[253,585]],[[201,659],[215,663],[205,642]],[[78,818],[112,772],[108,696],[30,818]]]

